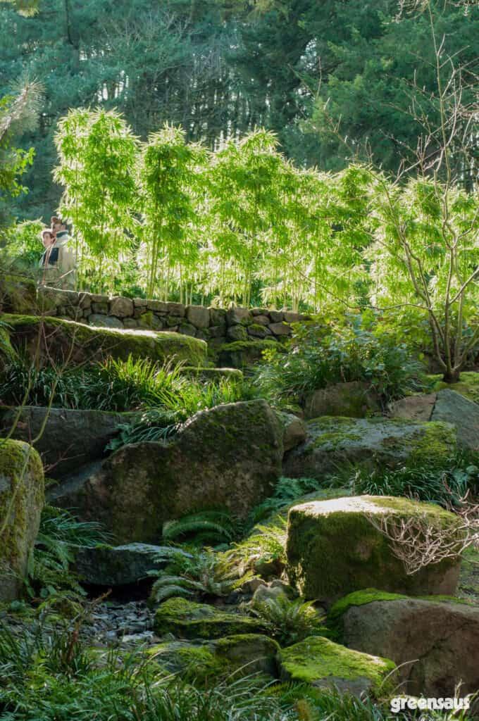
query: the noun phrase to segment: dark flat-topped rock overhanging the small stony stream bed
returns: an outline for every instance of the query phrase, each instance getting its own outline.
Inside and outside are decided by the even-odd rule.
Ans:
[[[91,585],[128,585],[148,578],[150,571],[164,568],[171,561],[171,552],[171,547],[144,543],[82,547],[76,551],[75,570],[84,583]],[[180,549],[176,552],[188,555]]]

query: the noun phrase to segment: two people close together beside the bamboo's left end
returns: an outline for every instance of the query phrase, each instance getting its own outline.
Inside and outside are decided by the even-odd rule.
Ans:
[[[69,249],[69,231],[60,218],[50,219],[51,228],[42,231],[45,252],[40,260],[43,268],[42,283],[45,286],[72,291],[76,284],[74,253]],[[50,236],[50,244],[48,244]]]

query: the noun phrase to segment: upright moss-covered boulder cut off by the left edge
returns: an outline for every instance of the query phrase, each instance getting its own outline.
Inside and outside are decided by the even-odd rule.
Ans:
[[[38,453],[28,443],[0,438],[0,601],[19,594],[44,498]]]

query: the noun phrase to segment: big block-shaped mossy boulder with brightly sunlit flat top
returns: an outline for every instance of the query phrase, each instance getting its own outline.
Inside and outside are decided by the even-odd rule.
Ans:
[[[457,528],[457,516],[431,503],[356,496],[296,505],[289,511],[286,553],[291,583],[306,598],[329,605],[362,588],[454,595],[460,560],[445,559],[408,575],[391,542],[368,516],[400,523],[411,516],[436,528]]]

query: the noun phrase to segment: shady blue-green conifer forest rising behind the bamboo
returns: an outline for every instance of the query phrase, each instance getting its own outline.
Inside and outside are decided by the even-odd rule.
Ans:
[[[467,95],[478,7],[433,4]],[[40,0],[27,16],[18,3],[0,8],[0,96],[25,78],[45,91],[38,125],[22,136],[35,162],[23,179],[30,192],[14,200],[19,218],[48,218],[58,205],[53,134],[74,107],[115,107],[142,139],[165,121],[181,124],[210,149],[263,126],[297,164],[324,170],[372,159],[396,172],[413,157],[423,112],[434,124],[430,17],[400,12],[397,0]],[[466,185],[478,155],[471,136]]]

